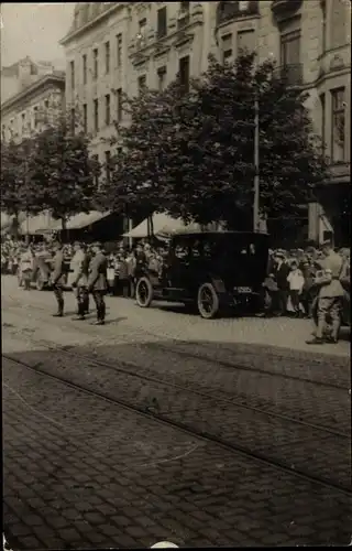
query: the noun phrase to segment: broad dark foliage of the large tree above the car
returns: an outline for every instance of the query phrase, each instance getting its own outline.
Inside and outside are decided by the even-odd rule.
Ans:
[[[127,98],[131,125],[117,125],[123,148],[102,185],[119,210],[167,212],[201,224],[252,226],[255,101],[258,106],[261,210],[294,217],[326,175],[307,97],[289,87],[275,64],[252,54],[233,65],[209,60],[208,71],[183,93]]]

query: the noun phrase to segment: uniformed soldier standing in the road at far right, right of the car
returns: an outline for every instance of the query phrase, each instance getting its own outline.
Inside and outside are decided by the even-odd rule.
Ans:
[[[343,260],[334,252],[331,241],[326,241],[322,246],[323,259],[317,263],[323,270],[323,274],[317,283],[319,284],[318,306],[317,306],[317,331],[316,336],[307,344],[338,343],[341,326],[341,310],[343,299],[343,288],[340,282]],[[327,317],[331,318],[331,336],[324,338],[323,333],[327,326]]]

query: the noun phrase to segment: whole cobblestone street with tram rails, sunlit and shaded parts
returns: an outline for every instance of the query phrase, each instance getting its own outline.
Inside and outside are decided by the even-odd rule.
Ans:
[[[351,541],[348,338],[308,350],[310,321],[123,299],[94,327],[65,299],[55,320],[52,293],[2,278],[13,549]]]

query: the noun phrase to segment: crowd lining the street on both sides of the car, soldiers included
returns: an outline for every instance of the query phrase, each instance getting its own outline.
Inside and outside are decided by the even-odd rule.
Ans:
[[[58,245],[58,241],[42,241],[28,246],[24,241],[8,238],[1,247],[1,273],[18,274],[20,284],[29,290],[34,267],[37,266],[35,260],[44,259],[46,263],[51,263],[50,279],[58,303],[56,315],[63,315],[63,285],[68,285],[77,296],[78,318],[84,320],[89,303],[88,281],[95,272],[103,288],[94,294],[97,321],[103,323],[103,294],[133,298],[136,280],[145,268],[162,277],[167,253],[166,246],[156,241],[151,244],[146,239],[139,241],[132,249],[123,242],[116,245],[113,249],[111,245]],[[103,260],[102,267],[98,267],[99,274],[94,260],[97,253]],[[101,270],[105,278],[100,278]],[[59,277],[55,276],[58,272]],[[59,285],[55,278],[61,281]],[[263,291],[265,316],[312,317],[318,327],[312,342],[317,344],[323,339],[327,317],[330,316],[331,338],[336,342],[339,333],[337,327],[340,327],[343,315],[343,300],[350,291],[350,249],[334,250],[331,244],[326,242],[320,248],[271,250]]]

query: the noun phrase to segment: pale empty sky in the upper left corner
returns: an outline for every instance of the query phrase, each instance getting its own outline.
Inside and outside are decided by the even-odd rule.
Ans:
[[[75,2],[1,3],[1,65],[29,55],[35,61],[64,60],[58,41],[72,24]]]

